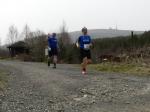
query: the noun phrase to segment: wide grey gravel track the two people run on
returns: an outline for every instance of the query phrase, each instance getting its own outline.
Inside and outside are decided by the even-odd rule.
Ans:
[[[11,72],[0,112],[150,112],[150,77],[89,72],[74,65],[0,61]]]

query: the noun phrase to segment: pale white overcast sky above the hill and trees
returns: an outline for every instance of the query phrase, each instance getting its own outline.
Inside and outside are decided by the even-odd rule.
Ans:
[[[150,0],[0,0],[0,38],[8,28],[58,32],[64,20],[69,31],[89,29],[150,29]]]

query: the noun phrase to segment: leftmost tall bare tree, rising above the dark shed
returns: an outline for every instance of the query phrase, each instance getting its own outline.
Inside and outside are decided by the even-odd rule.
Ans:
[[[9,27],[8,32],[8,43],[13,44],[18,40],[18,30],[14,25]]]

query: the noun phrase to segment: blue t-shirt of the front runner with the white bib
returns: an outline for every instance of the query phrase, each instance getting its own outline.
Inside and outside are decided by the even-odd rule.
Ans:
[[[89,35],[82,35],[78,38],[78,43],[81,49],[86,49],[85,46],[91,44],[91,37]]]

